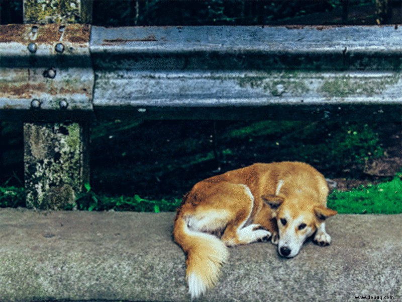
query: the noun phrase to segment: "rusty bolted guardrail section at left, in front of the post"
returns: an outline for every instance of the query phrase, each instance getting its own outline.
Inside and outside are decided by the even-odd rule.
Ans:
[[[0,119],[79,120],[92,112],[89,25],[0,26]]]

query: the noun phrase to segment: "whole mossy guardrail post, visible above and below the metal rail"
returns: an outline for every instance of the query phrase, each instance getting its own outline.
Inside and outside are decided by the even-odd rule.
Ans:
[[[81,23],[91,19],[85,0],[24,0],[24,23]],[[61,105],[60,105],[61,106]],[[89,181],[89,123],[25,123],[27,207],[63,209]]]

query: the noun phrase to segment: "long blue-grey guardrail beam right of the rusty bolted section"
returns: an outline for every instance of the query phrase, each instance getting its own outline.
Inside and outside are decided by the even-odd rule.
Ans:
[[[92,27],[100,118],[402,120],[385,27]]]

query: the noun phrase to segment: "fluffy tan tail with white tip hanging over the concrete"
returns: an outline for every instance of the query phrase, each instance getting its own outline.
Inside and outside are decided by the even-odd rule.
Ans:
[[[174,223],[173,236],[187,255],[188,292],[191,299],[197,298],[218,281],[221,265],[229,257],[228,248],[211,234],[191,230],[180,216]]]

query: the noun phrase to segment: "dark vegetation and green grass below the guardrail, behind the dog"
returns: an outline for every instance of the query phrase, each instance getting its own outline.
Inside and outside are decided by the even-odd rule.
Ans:
[[[6,137],[8,129],[12,127],[3,129]],[[337,183],[329,205],[339,212],[398,213],[402,212],[401,135],[400,123],[385,122],[94,123],[92,181],[73,207],[174,210],[199,180],[255,162],[297,160],[312,164]],[[22,145],[21,139],[15,143]],[[1,207],[24,205],[22,150],[20,158],[11,153],[15,151],[5,152],[10,156],[4,166],[15,170],[3,170],[8,179],[0,187]],[[345,189],[348,192],[341,192]]]

